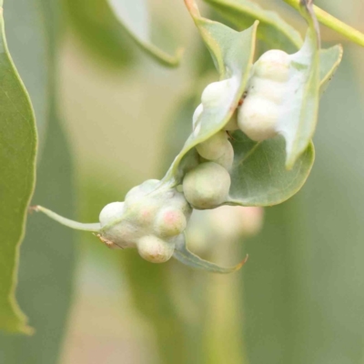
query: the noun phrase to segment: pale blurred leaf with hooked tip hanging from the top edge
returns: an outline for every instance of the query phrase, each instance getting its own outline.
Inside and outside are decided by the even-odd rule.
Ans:
[[[183,49],[178,48],[175,55],[170,56],[152,43],[146,0],[107,0],[107,3],[119,24],[149,56],[165,66],[179,65]]]

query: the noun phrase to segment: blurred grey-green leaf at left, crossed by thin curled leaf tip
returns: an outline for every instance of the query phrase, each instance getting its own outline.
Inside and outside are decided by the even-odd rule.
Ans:
[[[71,155],[55,108],[49,117],[51,122],[33,202],[47,204],[72,216],[75,186]],[[73,293],[75,258],[73,230],[42,215],[28,217],[17,296],[35,327],[35,335],[31,338],[1,336],[1,363],[58,363]]]

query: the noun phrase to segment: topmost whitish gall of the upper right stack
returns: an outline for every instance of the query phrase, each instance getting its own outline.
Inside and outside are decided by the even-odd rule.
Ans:
[[[289,78],[290,58],[286,52],[271,49],[264,53],[254,65],[254,75],[278,82]]]

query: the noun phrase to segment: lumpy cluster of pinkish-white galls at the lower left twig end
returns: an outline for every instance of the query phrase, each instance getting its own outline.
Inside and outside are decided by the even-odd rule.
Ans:
[[[172,257],[192,209],[176,188],[158,185],[157,179],[149,179],[132,188],[125,202],[113,202],[103,208],[99,238],[106,245],[137,248],[142,258],[153,263]]]

